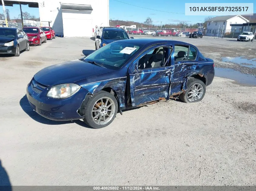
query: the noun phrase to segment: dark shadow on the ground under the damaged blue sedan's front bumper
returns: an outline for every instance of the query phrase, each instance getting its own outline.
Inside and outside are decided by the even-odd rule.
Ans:
[[[30,116],[32,119],[34,119],[35,121],[39,122],[39,123],[43,123],[46,125],[62,125],[62,124],[69,124],[69,123],[76,123],[79,126],[83,126],[89,129],[92,129],[90,126],[86,125],[83,121],[81,120],[73,120],[73,121],[53,121],[47,118],[42,117],[41,115],[39,115],[38,113],[36,113],[32,107],[29,105],[28,103],[28,98],[26,95],[24,95],[21,100],[20,100],[20,106],[22,108],[22,110],[28,114],[28,116]]]

